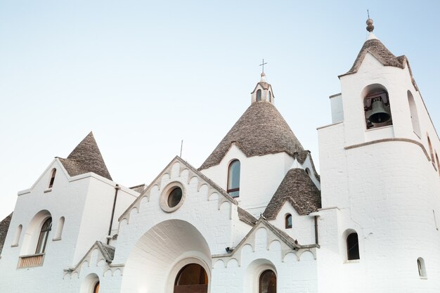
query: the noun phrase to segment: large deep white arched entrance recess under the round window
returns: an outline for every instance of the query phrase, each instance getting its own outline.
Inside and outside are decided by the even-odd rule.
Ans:
[[[185,292],[181,290],[188,285],[206,285],[195,287],[199,290],[205,287],[207,291],[195,292],[207,293],[211,278],[211,255],[205,237],[195,226],[176,219],[158,223],[144,233],[131,249],[124,268],[122,292],[179,293]],[[197,271],[194,270],[196,266],[188,266],[192,263],[203,268],[207,276],[206,284],[188,284],[193,280],[191,272]],[[197,280],[200,282],[200,278]],[[177,291],[176,287],[179,287]]]

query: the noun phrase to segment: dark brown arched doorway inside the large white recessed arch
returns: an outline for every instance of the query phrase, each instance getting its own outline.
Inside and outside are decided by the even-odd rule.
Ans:
[[[189,263],[177,274],[174,293],[207,293],[208,275],[198,263]]]

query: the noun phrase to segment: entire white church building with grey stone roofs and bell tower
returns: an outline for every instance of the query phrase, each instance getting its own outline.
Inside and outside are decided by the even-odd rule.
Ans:
[[[0,223],[0,292],[440,292],[439,136],[367,25],[321,176],[264,73],[202,166],[175,157],[148,186],[112,181],[90,133]]]

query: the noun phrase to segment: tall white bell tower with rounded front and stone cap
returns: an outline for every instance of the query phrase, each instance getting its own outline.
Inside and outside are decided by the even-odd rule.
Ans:
[[[366,28],[354,64],[339,75],[341,93],[330,96],[332,124],[318,128],[319,213],[337,223],[326,230],[336,236],[322,241],[333,245],[341,263],[333,269],[353,292],[425,292],[436,280],[429,271],[440,271],[440,141],[408,59],[375,37],[370,18]],[[360,271],[375,282],[356,277]]]

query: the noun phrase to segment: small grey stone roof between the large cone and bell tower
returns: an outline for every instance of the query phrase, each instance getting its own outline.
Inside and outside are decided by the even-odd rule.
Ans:
[[[300,215],[306,215],[321,208],[321,192],[303,169],[290,169],[285,174],[283,181],[264,210],[264,217],[268,220],[275,219],[287,201],[295,207]]]

